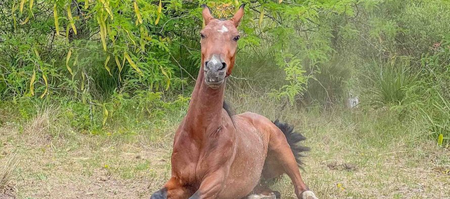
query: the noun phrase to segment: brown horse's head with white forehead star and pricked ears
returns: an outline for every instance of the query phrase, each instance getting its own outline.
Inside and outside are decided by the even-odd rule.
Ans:
[[[244,16],[244,6],[239,7],[232,19],[219,20],[203,5],[205,28],[200,32],[200,44],[205,83],[210,88],[219,88],[233,70],[239,40],[237,27]]]

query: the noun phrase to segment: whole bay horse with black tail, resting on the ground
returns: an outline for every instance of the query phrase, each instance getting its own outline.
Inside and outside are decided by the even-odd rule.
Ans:
[[[151,199],[275,198],[279,193],[264,182],[284,173],[298,198],[317,199],[298,168],[300,152],[307,149],[298,145],[303,136],[288,124],[251,112],[231,116],[223,108],[244,6],[232,19],[218,20],[203,5],[202,65],[188,112],[175,133],[171,178]]]

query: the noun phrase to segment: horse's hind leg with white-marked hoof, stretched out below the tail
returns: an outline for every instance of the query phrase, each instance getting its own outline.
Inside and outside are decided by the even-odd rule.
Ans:
[[[273,138],[269,141],[269,150],[273,152],[280,161],[284,172],[291,178],[297,197],[302,199],[317,199],[316,195],[312,191],[309,191],[309,188],[303,182],[294,154],[292,154],[291,148],[282,132],[273,135]]]

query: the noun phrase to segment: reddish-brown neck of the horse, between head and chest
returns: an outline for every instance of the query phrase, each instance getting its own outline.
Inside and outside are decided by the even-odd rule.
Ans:
[[[197,138],[213,132],[221,125],[225,84],[218,89],[209,88],[204,80],[203,68],[200,69],[191,102],[185,120],[185,129]]]

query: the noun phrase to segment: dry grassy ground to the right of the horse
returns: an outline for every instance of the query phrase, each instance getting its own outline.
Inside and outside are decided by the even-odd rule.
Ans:
[[[450,170],[450,151],[422,138],[419,123],[399,121],[383,111],[319,113],[310,108],[306,113],[267,95],[245,93],[240,89],[245,87],[239,85],[227,95],[239,102],[238,113],[248,110],[280,118],[308,138],[305,145],[311,152],[302,175],[320,198],[450,198],[450,174],[445,172]],[[283,198],[295,198],[287,177],[273,188]]]

